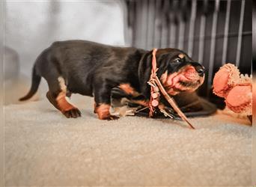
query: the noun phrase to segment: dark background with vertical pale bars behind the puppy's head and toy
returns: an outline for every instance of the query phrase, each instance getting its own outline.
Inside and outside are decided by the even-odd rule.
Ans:
[[[252,1],[127,0],[127,38],[144,49],[179,48],[206,68],[200,96],[212,93],[213,76],[225,63],[252,72]]]

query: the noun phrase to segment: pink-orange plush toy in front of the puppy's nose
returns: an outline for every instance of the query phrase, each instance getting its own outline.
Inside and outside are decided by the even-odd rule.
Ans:
[[[225,98],[231,111],[252,115],[252,77],[240,74],[233,64],[225,64],[213,79],[213,93]]]

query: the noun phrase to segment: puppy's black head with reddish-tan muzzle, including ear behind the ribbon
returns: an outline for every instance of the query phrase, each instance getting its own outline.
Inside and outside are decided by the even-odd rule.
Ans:
[[[156,66],[157,76],[170,95],[195,91],[204,82],[204,67],[179,49],[158,49]],[[152,51],[144,55],[138,70],[141,92],[144,94],[149,92],[147,81],[150,79],[151,68]]]

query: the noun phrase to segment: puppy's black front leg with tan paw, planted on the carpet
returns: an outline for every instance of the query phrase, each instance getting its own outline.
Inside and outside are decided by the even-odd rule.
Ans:
[[[94,87],[94,113],[98,114],[100,120],[117,120],[119,117],[110,114],[110,104],[111,104],[111,85],[106,84],[106,82],[101,82],[101,84],[96,84]]]

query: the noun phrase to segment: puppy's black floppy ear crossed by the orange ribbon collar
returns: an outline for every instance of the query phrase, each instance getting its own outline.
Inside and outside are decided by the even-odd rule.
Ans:
[[[147,82],[150,79],[152,70],[152,52],[152,50],[150,52],[146,52],[138,64],[138,80],[141,93],[147,98],[150,98],[150,85],[148,85]],[[163,73],[165,73],[168,67],[168,58],[166,58],[166,55],[167,54],[158,54],[156,52],[156,67],[158,68],[156,74],[159,78]]]

